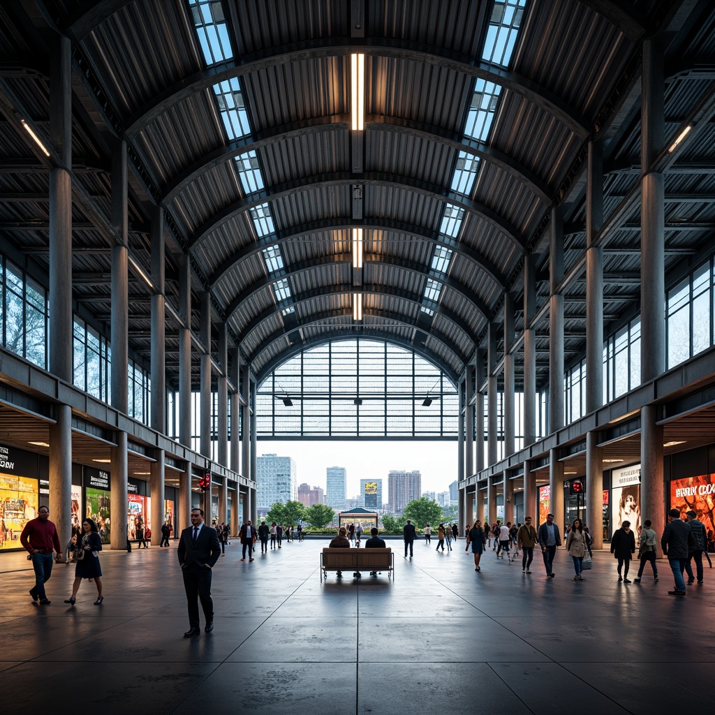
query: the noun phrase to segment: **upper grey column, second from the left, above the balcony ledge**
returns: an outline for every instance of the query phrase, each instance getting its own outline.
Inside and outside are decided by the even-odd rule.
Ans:
[[[127,186],[127,143],[119,142],[112,154],[112,225],[122,242],[112,246],[112,407],[124,414],[129,412]],[[124,521],[127,521],[126,506]]]

